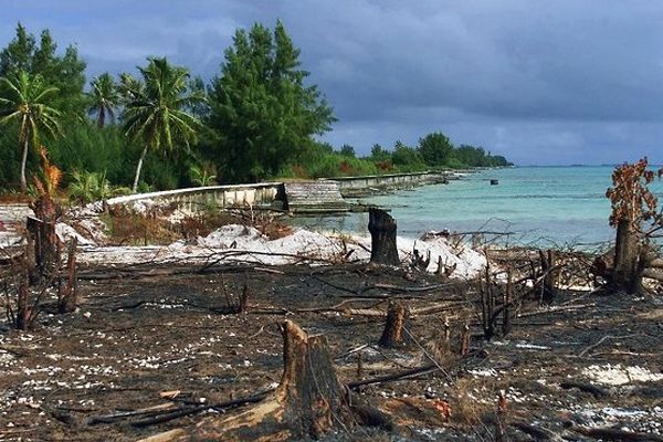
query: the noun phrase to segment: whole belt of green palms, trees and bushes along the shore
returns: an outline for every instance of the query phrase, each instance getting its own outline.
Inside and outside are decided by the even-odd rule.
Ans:
[[[75,201],[215,182],[319,178],[507,166],[436,131],[417,146],[373,145],[359,157],[317,137],[336,120],[309,82],[285,28],[238,30],[209,84],[165,57],[103,73],[85,91],[75,46],[57,50],[20,23],[0,50],[0,189],[25,189],[43,144]],[[18,146],[18,148],[17,148]],[[147,154],[150,155],[147,155]]]

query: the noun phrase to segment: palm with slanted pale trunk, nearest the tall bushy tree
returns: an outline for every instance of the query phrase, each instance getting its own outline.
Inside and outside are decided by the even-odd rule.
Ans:
[[[162,59],[150,57],[147,67],[139,67],[144,86],[131,87],[125,108],[125,131],[131,141],[145,144],[131,189],[136,191],[140,169],[147,151],[165,147],[172,149],[175,143],[197,139],[194,128],[200,122],[187,113],[194,104],[204,101],[200,91],[189,91],[189,71],[172,66]],[[139,84],[139,82],[137,82]]]

